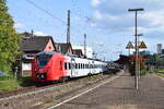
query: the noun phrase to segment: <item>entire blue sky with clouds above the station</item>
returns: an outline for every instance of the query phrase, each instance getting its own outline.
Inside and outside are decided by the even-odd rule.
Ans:
[[[9,13],[19,33],[34,31],[35,35],[52,36],[55,43],[67,40],[67,11],[71,11],[71,44],[86,45],[97,58],[117,60],[128,55],[126,46],[134,45],[134,13],[128,9],[143,8],[138,12],[138,34],[156,52],[164,43],[163,0],[8,0]]]

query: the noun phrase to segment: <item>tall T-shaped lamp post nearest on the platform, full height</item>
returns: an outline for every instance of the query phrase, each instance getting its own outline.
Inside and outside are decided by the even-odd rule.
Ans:
[[[136,12],[136,22],[134,22],[134,26],[136,26],[136,40],[134,40],[134,48],[136,48],[136,89],[139,88],[139,43],[138,43],[138,29],[137,29],[137,15],[138,15],[138,11],[143,11],[143,9],[129,9],[129,12]]]

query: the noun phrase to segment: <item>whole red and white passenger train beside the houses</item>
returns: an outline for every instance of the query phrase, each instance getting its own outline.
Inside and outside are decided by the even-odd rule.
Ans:
[[[106,65],[107,63],[101,60],[43,51],[37,53],[32,63],[32,78],[36,82],[54,82],[86,76],[104,72]]]

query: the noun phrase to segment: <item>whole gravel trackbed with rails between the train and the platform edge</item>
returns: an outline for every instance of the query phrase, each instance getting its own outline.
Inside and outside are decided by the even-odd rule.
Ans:
[[[66,83],[55,83],[42,87],[31,86],[14,92],[1,93],[0,109],[30,109],[50,99],[69,95],[71,92],[81,90],[83,87],[97,84],[112,76],[113,74],[98,74],[70,80]]]

